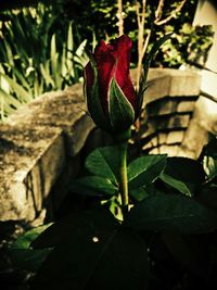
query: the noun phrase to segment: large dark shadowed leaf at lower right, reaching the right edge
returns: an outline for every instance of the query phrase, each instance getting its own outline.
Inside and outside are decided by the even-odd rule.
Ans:
[[[217,215],[181,194],[156,194],[136,204],[126,224],[139,230],[200,234],[217,228]]]

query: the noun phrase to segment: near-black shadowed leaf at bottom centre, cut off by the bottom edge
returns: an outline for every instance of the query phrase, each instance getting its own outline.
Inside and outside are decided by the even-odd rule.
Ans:
[[[103,253],[88,289],[146,289],[148,256],[144,241],[120,229]]]

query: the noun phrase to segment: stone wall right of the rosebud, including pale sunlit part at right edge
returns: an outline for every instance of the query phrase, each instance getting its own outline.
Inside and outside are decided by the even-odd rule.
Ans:
[[[155,68],[149,78],[145,122],[137,136],[141,150],[197,159],[209,135],[217,135],[217,99],[200,94],[201,77],[190,70]]]

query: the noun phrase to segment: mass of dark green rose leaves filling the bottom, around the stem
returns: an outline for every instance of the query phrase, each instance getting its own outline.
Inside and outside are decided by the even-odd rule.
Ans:
[[[216,160],[215,144],[216,139],[204,149],[202,161]],[[120,222],[107,210],[118,198],[119,150],[117,146],[91,152],[85,165],[92,176],[73,181],[78,194],[108,200],[104,206],[72,213],[40,236],[39,228],[14,244],[12,256],[17,265],[38,270],[31,289],[155,290],[161,279],[163,289],[173,289],[176,277],[183,275],[196,277],[193,285],[215,282],[214,163],[166,155],[131,162],[128,180],[135,204]],[[176,263],[167,268],[171,261]],[[165,272],[162,278],[159,269]]]

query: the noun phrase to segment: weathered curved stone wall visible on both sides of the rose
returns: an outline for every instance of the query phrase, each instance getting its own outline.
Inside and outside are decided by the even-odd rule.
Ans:
[[[195,123],[192,116],[199,94],[200,76],[194,72],[150,71],[144,99],[148,122],[139,130],[144,152],[176,155],[178,147],[182,151],[179,154],[188,155],[184,140],[190,138],[187,131],[192,119]],[[67,184],[77,174],[79,152],[93,128],[79,84],[44,93],[1,124],[0,220],[40,217],[50,202],[51,189],[58,207],[66,192],[63,188],[53,190],[56,180],[59,186]],[[203,144],[207,134],[204,136]]]

